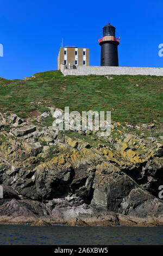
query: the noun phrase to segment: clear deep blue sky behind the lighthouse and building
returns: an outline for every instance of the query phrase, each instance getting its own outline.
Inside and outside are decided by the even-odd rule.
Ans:
[[[121,36],[120,66],[163,67],[162,0],[0,0],[0,9],[0,77],[21,79],[57,69],[62,38],[64,46],[90,48],[90,65],[100,65],[98,39],[108,22]]]

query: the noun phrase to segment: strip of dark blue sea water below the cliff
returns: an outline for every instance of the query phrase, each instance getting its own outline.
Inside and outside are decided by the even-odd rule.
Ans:
[[[163,245],[163,227],[0,225],[0,245]]]

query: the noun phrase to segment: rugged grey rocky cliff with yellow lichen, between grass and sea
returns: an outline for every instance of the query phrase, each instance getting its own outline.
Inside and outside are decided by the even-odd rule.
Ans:
[[[55,107],[0,113],[0,223],[162,225],[162,127],[111,125],[111,134],[54,131]]]

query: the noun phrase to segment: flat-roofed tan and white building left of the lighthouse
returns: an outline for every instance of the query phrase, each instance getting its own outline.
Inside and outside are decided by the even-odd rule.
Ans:
[[[90,65],[89,48],[78,48],[76,46],[60,47],[58,58],[57,58],[57,69],[60,69],[61,64],[65,64],[67,68],[73,65],[89,66]]]

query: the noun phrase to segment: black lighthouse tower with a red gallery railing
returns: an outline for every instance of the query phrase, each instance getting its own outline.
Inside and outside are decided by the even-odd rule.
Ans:
[[[115,29],[108,23],[103,27],[103,38],[98,40],[99,45],[101,45],[101,66],[118,66],[120,38],[116,38]]]

